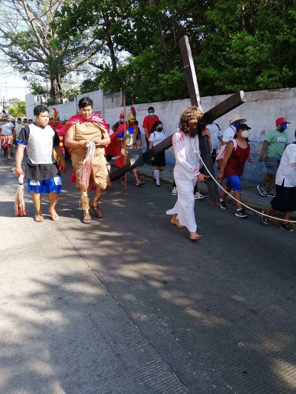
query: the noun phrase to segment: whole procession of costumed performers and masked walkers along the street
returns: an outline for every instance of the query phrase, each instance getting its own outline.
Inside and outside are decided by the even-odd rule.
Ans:
[[[59,114],[55,109],[49,117],[48,109],[43,105],[34,108],[34,122],[24,119],[22,123],[21,119],[18,119],[15,125],[9,121],[0,124],[1,145],[2,149],[7,151],[8,158],[11,157],[14,141],[18,142],[15,171],[18,175],[24,174],[28,181],[28,191],[32,191],[32,200],[36,209],[35,220],[38,222],[43,221],[42,193],[49,193],[49,214],[52,220],[59,219],[54,207],[62,190],[60,172],[67,172],[67,156],[71,155],[73,164],[70,180],[76,182],[76,188],[80,190],[82,221],[90,223],[90,209],[94,210],[97,217],[103,216],[99,201],[105,190],[111,186],[108,161],[115,158],[115,164],[122,167],[129,163],[129,149],[137,149],[141,146],[141,130],[134,107],[131,107],[131,111],[127,113],[126,121],[124,114],[121,113],[119,121],[110,130],[105,120],[92,112],[92,106],[92,100],[83,97],[79,100],[79,113],[64,125],[60,122]],[[236,199],[235,216],[248,217],[240,203],[242,191],[240,177],[244,172],[245,162],[254,162],[254,159],[248,138],[251,128],[245,122],[246,119],[239,114],[232,114],[229,127],[222,133],[216,123],[206,124],[202,111],[196,106],[185,108],[181,113],[179,129],[172,136],[176,159],[172,194],[177,194],[178,199],[167,214],[172,215],[173,225],[187,227],[191,240],[199,240],[202,237],[197,233],[194,201],[204,197],[197,189],[197,183],[206,182],[208,178],[200,166],[198,138],[200,134],[208,138],[213,164],[216,158],[220,157],[217,160],[219,170],[217,179],[222,182],[226,178],[220,197],[221,208],[227,209],[225,197],[232,190]],[[285,131],[288,123],[285,118],[278,118],[275,121],[276,129],[266,134],[258,159],[259,162],[265,161],[266,176],[257,189],[263,197],[273,197],[271,208],[262,211],[264,225],[269,224],[269,218],[264,215],[273,215],[274,212],[279,211],[285,215],[280,228],[292,232],[294,229],[285,220],[289,220],[292,211],[295,210],[296,144],[288,145]],[[155,115],[153,107],[148,108],[148,115],[144,118],[142,127],[147,149],[154,148],[167,138],[163,123]],[[42,138],[39,138],[40,129],[43,130]],[[87,167],[90,141],[93,141],[94,145],[94,159],[86,176],[84,170]],[[219,141],[222,143],[220,150]],[[28,153],[28,163],[24,173],[21,163],[25,148]],[[165,152],[155,154],[151,158],[151,165],[154,169],[153,179],[159,187],[159,174],[165,169]],[[137,168],[133,169],[133,173],[136,186],[144,185],[145,182],[140,179]],[[124,185],[125,182],[123,177],[121,184]],[[268,184],[267,191],[266,184]],[[92,189],[95,190],[95,197],[90,203],[88,193]]]

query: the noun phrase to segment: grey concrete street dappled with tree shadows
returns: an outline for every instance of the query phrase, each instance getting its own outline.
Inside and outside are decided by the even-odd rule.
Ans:
[[[205,198],[191,242],[171,187],[130,174],[86,225],[69,161],[60,220],[45,195],[36,223],[0,162],[0,394],[296,392],[296,232]]]

